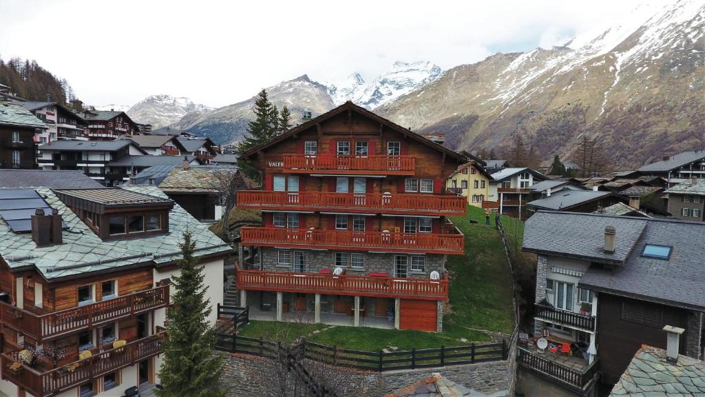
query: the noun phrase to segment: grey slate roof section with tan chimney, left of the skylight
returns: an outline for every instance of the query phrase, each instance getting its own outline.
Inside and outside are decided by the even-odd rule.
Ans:
[[[525,223],[522,248],[537,254],[622,264],[634,249],[646,223],[647,220],[643,218],[538,211]],[[617,230],[613,254],[605,254],[603,251],[606,226],[613,226]]]

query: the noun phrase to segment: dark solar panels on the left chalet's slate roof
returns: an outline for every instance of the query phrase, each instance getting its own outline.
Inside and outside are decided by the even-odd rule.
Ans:
[[[13,232],[31,232],[32,215],[37,208],[51,214],[51,207],[32,189],[0,189],[0,218]],[[66,223],[61,222],[61,228],[66,229]]]

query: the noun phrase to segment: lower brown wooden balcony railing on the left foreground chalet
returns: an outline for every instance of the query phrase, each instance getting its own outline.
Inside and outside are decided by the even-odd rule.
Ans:
[[[35,368],[37,365],[30,367],[23,364],[20,369],[13,371],[9,367],[13,362],[20,362],[19,352],[3,353],[2,375],[3,379],[21,386],[32,393],[32,396],[54,396],[56,393],[73,389],[90,381],[90,379],[130,367],[141,360],[158,355],[161,353],[163,340],[164,333],[158,333],[130,342],[121,348],[104,350],[85,360],[78,360],[70,365],[47,370]],[[68,371],[67,367],[74,365],[75,369]]]

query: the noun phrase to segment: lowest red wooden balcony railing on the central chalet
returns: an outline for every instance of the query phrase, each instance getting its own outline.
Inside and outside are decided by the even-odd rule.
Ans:
[[[390,266],[392,266],[390,264]],[[235,268],[238,289],[374,297],[410,297],[421,300],[448,300],[448,277],[372,277],[286,271],[242,270]]]

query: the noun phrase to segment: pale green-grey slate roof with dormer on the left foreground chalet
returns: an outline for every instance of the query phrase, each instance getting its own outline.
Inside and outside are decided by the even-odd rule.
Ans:
[[[168,199],[157,186],[127,186],[123,189]],[[142,263],[159,266],[181,258],[178,243],[186,230],[193,234],[197,256],[231,251],[228,244],[178,205],[169,211],[169,233],[166,235],[103,241],[57,198],[54,191],[48,188],[36,190],[49,206],[59,211],[68,230],[63,230],[63,244],[37,247],[30,233],[11,232],[0,220],[0,256],[11,268],[35,266],[44,278],[56,279]]]

